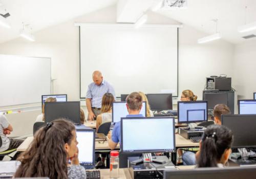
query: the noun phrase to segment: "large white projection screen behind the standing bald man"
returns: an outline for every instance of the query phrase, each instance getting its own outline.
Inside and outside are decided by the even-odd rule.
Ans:
[[[178,91],[178,29],[80,26],[80,98],[92,73],[102,72],[116,92]]]

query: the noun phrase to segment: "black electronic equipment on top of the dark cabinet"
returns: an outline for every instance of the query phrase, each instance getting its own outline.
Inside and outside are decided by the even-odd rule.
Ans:
[[[227,77],[207,77],[206,78],[206,89],[219,89],[220,91],[230,91],[231,78]]]

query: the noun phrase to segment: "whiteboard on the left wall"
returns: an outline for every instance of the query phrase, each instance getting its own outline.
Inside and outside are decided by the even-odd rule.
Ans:
[[[37,103],[51,94],[51,58],[0,55],[0,106]]]

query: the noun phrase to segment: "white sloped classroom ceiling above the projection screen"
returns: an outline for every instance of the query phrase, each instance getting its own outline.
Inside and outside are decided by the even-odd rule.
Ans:
[[[119,8],[117,21],[124,20],[127,23],[130,17],[130,23],[134,23],[134,19],[146,10],[150,10],[151,4],[153,5],[156,1],[160,0],[0,0],[0,13],[6,9],[11,14],[7,19],[12,26],[11,29],[0,27],[0,43],[18,37],[23,21],[25,24],[31,25],[33,32],[37,32],[116,4]],[[234,44],[256,40],[256,37],[247,40],[242,38],[245,35],[256,35],[256,31],[247,33],[238,33],[237,31],[238,26],[245,24],[245,21],[247,24],[256,21],[255,0],[187,1],[186,9],[160,9],[156,13],[209,35],[216,33],[216,24],[212,19],[218,19],[218,32],[222,34],[224,40]],[[245,6],[247,6],[246,10]]]

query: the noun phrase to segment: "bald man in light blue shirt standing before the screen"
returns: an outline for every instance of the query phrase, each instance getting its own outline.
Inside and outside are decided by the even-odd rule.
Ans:
[[[101,100],[105,93],[111,93],[115,96],[113,86],[103,80],[100,71],[93,72],[93,82],[88,85],[86,93],[86,106],[88,109],[88,120],[96,120],[96,117],[101,113]]]

